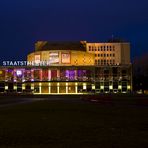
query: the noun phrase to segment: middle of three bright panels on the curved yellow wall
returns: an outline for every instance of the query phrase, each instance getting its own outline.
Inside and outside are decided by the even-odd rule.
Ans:
[[[49,53],[49,62],[50,62],[50,64],[58,64],[59,63],[59,53],[58,52],[50,52]]]

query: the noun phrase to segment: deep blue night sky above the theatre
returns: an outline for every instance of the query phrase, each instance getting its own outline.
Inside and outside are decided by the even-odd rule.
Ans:
[[[38,40],[131,42],[148,52],[148,0],[1,0],[0,61],[25,60]]]

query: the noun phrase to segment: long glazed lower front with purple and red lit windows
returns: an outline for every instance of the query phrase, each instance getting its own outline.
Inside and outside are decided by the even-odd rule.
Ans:
[[[129,93],[131,65],[1,67],[0,93]]]

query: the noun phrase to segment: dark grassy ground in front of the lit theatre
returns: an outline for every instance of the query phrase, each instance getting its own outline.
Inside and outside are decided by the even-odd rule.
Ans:
[[[148,97],[1,96],[0,148],[147,148]]]

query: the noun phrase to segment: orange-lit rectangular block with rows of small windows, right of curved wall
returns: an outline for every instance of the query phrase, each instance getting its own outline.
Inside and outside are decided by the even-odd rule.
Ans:
[[[95,54],[96,65],[130,64],[129,43],[86,43],[86,50]]]

